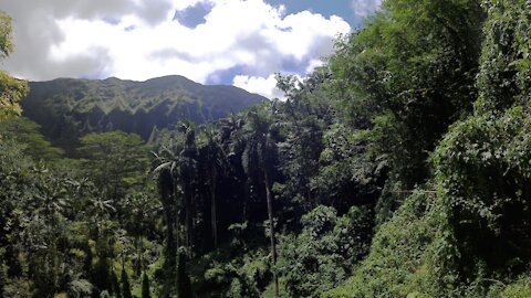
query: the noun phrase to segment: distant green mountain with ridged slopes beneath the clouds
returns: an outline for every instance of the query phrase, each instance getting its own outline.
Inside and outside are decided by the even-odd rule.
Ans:
[[[147,140],[155,127],[181,119],[204,124],[262,100],[266,97],[233,86],[201,85],[183,76],[145,82],[58,78],[30,82],[22,108],[52,142],[71,148],[87,132],[119,129]]]

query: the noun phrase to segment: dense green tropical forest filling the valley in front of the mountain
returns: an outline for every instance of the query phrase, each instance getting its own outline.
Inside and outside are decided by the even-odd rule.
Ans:
[[[0,297],[531,297],[530,28],[524,0],[385,0],[285,102],[67,127],[73,155],[2,73]]]

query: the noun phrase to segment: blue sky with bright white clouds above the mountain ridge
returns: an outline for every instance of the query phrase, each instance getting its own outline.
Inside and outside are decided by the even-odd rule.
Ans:
[[[274,74],[304,76],[381,0],[3,0],[30,81],[183,75],[282,97]]]

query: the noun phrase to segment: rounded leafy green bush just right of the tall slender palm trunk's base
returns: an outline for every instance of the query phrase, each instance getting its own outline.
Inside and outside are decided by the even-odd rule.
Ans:
[[[301,217],[302,232],[280,247],[280,272],[290,297],[321,297],[342,283],[367,253],[373,216],[353,206],[343,216],[320,205]]]

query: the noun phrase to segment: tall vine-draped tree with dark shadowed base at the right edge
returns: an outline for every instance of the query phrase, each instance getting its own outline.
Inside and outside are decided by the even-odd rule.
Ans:
[[[451,127],[434,155],[447,223],[438,259],[442,274],[459,280],[519,275],[531,260],[530,3],[486,7],[475,113]]]

